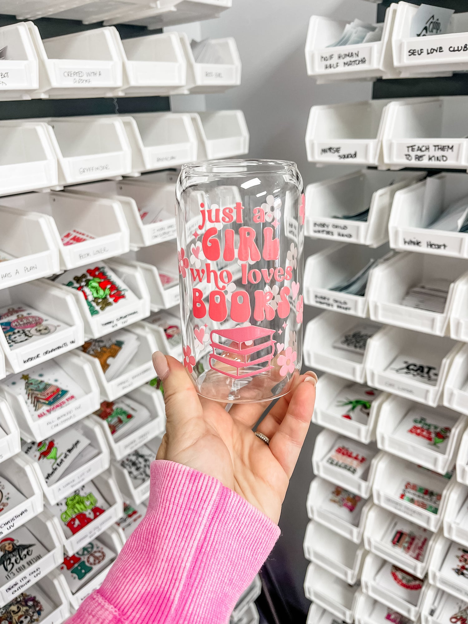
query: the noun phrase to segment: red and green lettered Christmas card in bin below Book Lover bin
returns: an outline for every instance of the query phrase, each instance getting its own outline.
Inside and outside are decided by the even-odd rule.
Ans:
[[[82,275],[74,276],[66,286],[82,293],[91,316],[124,300],[127,293],[106,266],[88,268]]]

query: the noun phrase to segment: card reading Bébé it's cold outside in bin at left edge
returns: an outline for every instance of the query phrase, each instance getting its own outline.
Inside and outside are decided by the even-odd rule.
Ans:
[[[47,554],[46,548],[26,527],[0,540],[0,576],[9,581]]]

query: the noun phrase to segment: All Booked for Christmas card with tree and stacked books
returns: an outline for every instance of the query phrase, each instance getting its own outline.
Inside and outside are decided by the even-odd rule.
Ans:
[[[52,412],[84,396],[80,386],[51,360],[24,373],[10,376],[2,383],[9,391],[23,397],[26,408],[34,419]]]

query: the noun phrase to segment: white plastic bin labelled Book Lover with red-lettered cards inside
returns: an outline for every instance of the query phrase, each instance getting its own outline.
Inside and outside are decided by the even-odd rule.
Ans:
[[[60,253],[62,270],[119,256],[130,249],[129,228],[117,201],[50,192],[12,195],[0,198],[0,204],[44,215],[50,238]]]

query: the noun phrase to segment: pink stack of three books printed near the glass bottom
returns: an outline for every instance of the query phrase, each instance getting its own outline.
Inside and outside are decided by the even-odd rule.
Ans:
[[[232,329],[213,329],[210,333],[213,353],[210,355],[210,367],[227,377],[243,379],[269,371],[273,366],[271,359],[275,355],[274,329],[265,329],[251,325]],[[253,342],[253,344],[252,344]],[[247,346],[245,343],[249,343]],[[255,354],[269,349],[266,355]],[[256,364],[263,364],[255,368]]]

